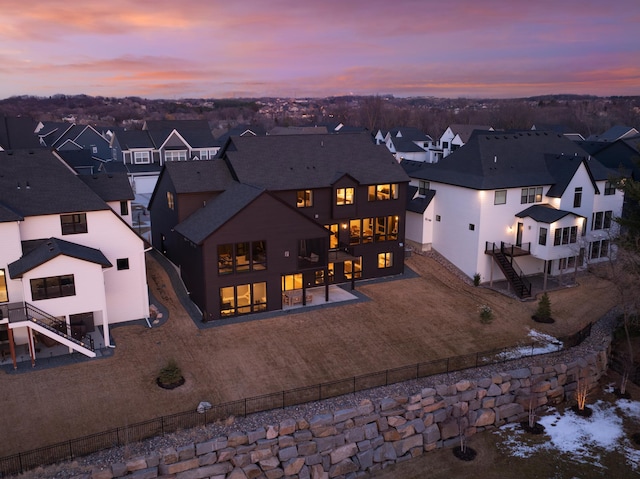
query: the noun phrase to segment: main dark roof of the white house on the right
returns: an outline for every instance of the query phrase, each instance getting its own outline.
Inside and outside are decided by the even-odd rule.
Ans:
[[[551,193],[556,195],[583,162],[592,179],[605,179],[611,173],[557,133],[476,131],[465,146],[438,163],[402,165],[417,179],[477,190],[554,185]]]

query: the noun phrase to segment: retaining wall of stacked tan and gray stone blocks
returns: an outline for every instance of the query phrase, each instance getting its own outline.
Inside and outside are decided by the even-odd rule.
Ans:
[[[286,419],[254,431],[160,451],[92,479],[328,479],[371,471],[460,444],[486,429],[526,420],[534,407],[573,401],[578,383],[592,389],[607,369],[608,343],[573,362],[529,366],[485,378],[424,388],[413,396],[364,400],[357,407]]]

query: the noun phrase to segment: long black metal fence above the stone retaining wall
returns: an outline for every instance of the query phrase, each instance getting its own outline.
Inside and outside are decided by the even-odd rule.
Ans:
[[[229,416],[246,416],[256,412],[281,409],[311,401],[320,401],[322,399],[352,394],[366,389],[388,386],[390,384],[436,374],[448,374],[463,369],[499,364],[512,359],[557,352],[563,348],[576,346],[584,341],[591,334],[591,326],[592,324],[589,323],[577,333],[561,338],[561,342],[550,343],[546,348],[540,348],[540,343],[531,343],[516,348],[503,348],[438,359],[364,374],[348,379],[218,404],[204,413],[191,410],[171,416],[162,416],[90,436],[71,439],[51,446],[0,458],[0,477],[19,474],[38,466],[74,460],[75,458],[86,456],[103,449],[126,446],[144,439],[170,434],[182,429],[205,426]]]

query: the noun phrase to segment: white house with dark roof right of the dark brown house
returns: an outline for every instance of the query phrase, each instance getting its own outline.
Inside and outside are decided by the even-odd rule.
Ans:
[[[558,275],[611,253],[623,203],[617,172],[562,135],[477,131],[446,161],[403,166],[413,187],[407,243],[435,249],[469,277]]]

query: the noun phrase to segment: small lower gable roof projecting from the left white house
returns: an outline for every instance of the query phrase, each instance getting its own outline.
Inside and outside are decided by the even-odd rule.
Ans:
[[[60,255],[96,263],[103,268],[113,266],[99,249],[71,243],[59,238],[25,241],[22,244],[22,249],[22,257],[9,264],[9,275],[12,279],[22,277],[24,273]]]

